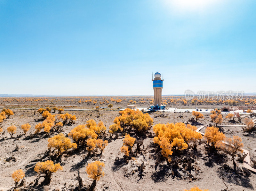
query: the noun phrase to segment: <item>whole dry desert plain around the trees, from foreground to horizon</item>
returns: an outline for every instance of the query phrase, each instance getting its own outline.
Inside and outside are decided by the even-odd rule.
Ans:
[[[120,100],[118,102],[118,100]],[[125,99],[125,100],[124,100]],[[174,101],[172,102],[172,99]],[[245,98],[245,101],[238,101],[237,103],[204,103],[191,104],[191,101],[184,104],[183,98],[180,97],[164,97],[168,107],[177,108],[221,108],[226,107],[250,107],[254,108],[256,99],[253,97]],[[86,101],[87,100],[87,101]],[[130,101],[132,100],[132,102]],[[81,101],[81,103],[79,103]],[[86,102],[85,102],[86,101]],[[135,102],[134,102],[135,101]],[[125,108],[127,104],[136,104],[138,107],[147,107],[150,105],[152,97],[45,97],[45,98],[1,98],[0,107],[10,108],[14,112],[9,118],[4,119],[1,123],[3,132],[0,135],[0,190],[11,190],[14,187],[12,180],[12,173],[18,169],[25,172],[25,180],[30,185],[28,190],[77,190],[78,181],[76,179],[77,170],[79,170],[84,181],[84,188],[92,184],[92,180],[88,178],[85,171],[88,163],[100,160],[105,164],[103,171],[105,176],[100,178],[97,182],[95,190],[116,191],[116,190],[173,190],[180,191],[190,189],[194,185],[201,189],[209,189],[211,191],[221,190],[255,190],[256,189],[256,174],[249,175],[244,172],[243,163],[236,160],[237,173],[233,171],[233,163],[231,157],[222,151],[211,150],[202,141],[198,144],[196,150],[189,150],[179,153],[174,157],[181,157],[182,155],[192,158],[194,169],[184,171],[182,163],[179,163],[178,172],[187,174],[178,176],[172,173],[172,169],[167,165],[163,158],[158,158],[159,149],[153,143],[154,132],[152,127],[158,123],[176,123],[183,122],[185,124],[191,122],[191,113],[164,113],[148,112],[150,117],[154,120],[148,131],[139,135],[134,130],[130,131],[130,135],[136,139],[143,141],[146,151],[137,153],[136,157],[127,161],[124,153],[120,148],[123,146],[123,139],[125,133],[120,133],[118,138],[115,135],[110,138],[108,134],[109,126],[113,124],[114,119],[119,116],[118,109]],[[100,104],[100,102],[104,102]],[[170,103],[168,103],[170,102]],[[249,104],[244,104],[249,103]],[[108,105],[112,104],[111,109]],[[99,106],[101,110],[95,110]],[[108,140],[108,146],[104,149],[102,155],[96,152],[95,155],[88,155],[85,147],[80,146],[79,149],[71,150],[61,159],[56,159],[54,163],[60,163],[63,167],[62,171],[53,173],[51,183],[48,185],[41,184],[43,178],[39,179],[37,186],[32,187],[37,173],[34,167],[37,162],[42,162],[50,159],[48,151],[48,138],[57,135],[59,132],[51,132],[45,134],[40,132],[35,136],[35,126],[42,122],[42,115],[36,111],[38,108],[58,107],[65,109],[62,113],[69,113],[76,115],[76,121],[73,124],[64,124],[62,133],[68,136],[71,129],[80,124],[86,124],[88,120],[95,120],[97,123],[102,121],[107,127],[105,140]],[[23,108],[23,109],[20,109]],[[73,109],[73,110],[71,110]],[[76,110],[77,109],[77,110]],[[89,110],[78,110],[89,109]],[[144,112],[146,113],[146,112]],[[52,113],[58,115],[58,112]],[[246,114],[245,114],[246,115]],[[247,114],[249,116],[249,114]],[[238,122],[229,121],[223,114],[223,122],[221,125],[243,125],[243,120]],[[26,135],[20,128],[22,124],[29,123],[30,130]],[[196,123],[192,123],[197,128],[202,125],[211,124],[210,114],[204,114],[204,119],[199,119]],[[213,123],[212,123],[213,124]],[[16,134],[11,136],[6,131],[6,128],[15,125],[17,127]],[[220,127],[227,137],[240,136],[244,143],[244,149],[250,151],[250,157],[256,160],[256,131],[245,133],[241,127]],[[204,129],[202,129],[204,132]],[[7,158],[11,160],[7,161]],[[237,159],[237,158],[236,158]],[[140,166],[144,162],[145,168],[141,175],[139,173]],[[179,174],[178,173],[178,174]],[[64,184],[66,187],[64,187]]]

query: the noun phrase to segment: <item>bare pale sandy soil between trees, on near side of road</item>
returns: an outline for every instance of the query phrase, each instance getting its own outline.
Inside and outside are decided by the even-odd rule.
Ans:
[[[72,126],[64,126],[64,133],[68,133],[78,124],[85,124],[87,120],[94,119],[96,122],[103,121],[108,128],[113,124],[113,120],[118,116],[118,111],[100,111],[100,117],[97,117],[96,112],[93,111],[73,111],[69,112],[75,114],[77,121]],[[89,115],[88,115],[89,114]],[[92,116],[90,116],[92,114]],[[153,125],[157,123],[186,123],[191,118],[191,113],[169,113],[167,117],[157,117],[154,115],[157,113],[151,113],[150,116],[154,119]],[[222,124],[232,124],[225,119]],[[36,161],[44,161],[49,159],[46,155],[47,151],[47,139],[44,134],[40,134],[32,139],[29,136],[22,135],[20,126],[24,123],[29,123],[31,129],[29,132],[34,132],[34,127],[41,118],[41,115],[36,114],[31,110],[16,110],[15,114],[10,116],[2,122],[2,127],[5,131],[4,139],[0,140],[0,189],[8,190],[14,186],[11,174],[17,169],[22,169],[26,174],[26,181],[31,182],[36,179],[37,174],[34,171]],[[197,127],[202,124],[208,125],[211,121],[209,115],[204,115],[204,119],[199,120]],[[6,132],[6,128],[10,125],[17,127],[17,133],[10,139],[10,135]],[[242,128],[241,128],[242,129]],[[226,136],[233,136],[234,134],[242,137],[244,142],[244,148],[250,151],[251,157],[255,158],[255,132],[250,136],[245,136],[245,133],[240,128],[228,127],[224,128],[223,132]],[[152,128],[149,130],[152,132]],[[28,132],[28,133],[29,133]],[[56,135],[52,134],[50,137]],[[131,133],[136,137],[136,134]],[[113,136],[114,137],[114,136]],[[100,179],[96,185],[95,190],[172,190],[179,191],[193,187],[197,185],[202,189],[209,189],[211,191],[220,191],[226,188],[223,181],[227,184],[228,190],[255,190],[256,189],[256,174],[251,176],[245,176],[245,174],[235,174],[232,171],[228,171],[223,167],[227,164],[231,168],[232,160],[229,156],[225,156],[221,152],[209,152],[205,148],[205,144],[198,146],[198,150],[195,153],[195,162],[198,166],[198,170],[191,170],[191,174],[195,176],[195,179],[181,179],[173,176],[166,162],[160,161],[159,165],[156,165],[156,147],[152,144],[152,137],[146,136],[144,139],[144,145],[148,147],[147,151],[138,154],[136,160],[130,160],[126,163],[123,157],[123,153],[120,152],[120,147],[123,144],[124,136],[119,136],[119,139],[109,139],[109,145],[104,150],[102,156],[97,152],[95,156],[86,157],[88,152],[85,148],[80,148],[79,151],[69,153],[67,156],[63,156],[60,164],[63,166],[63,171],[59,171],[53,174],[52,181],[45,187],[36,187],[35,190],[53,190],[55,188],[64,187],[64,183],[67,183],[68,189],[74,189],[78,184],[74,174],[77,174],[77,170],[80,170],[81,176],[84,180],[85,186],[92,183],[92,180],[87,178],[85,167],[88,163],[94,160],[101,160],[105,163],[105,176]],[[15,151],[16,145],[20,147],[20,150]],[[14,156],[15,160],[6,162],[6,158]],[[144,176],[138,176],[138,167],[145,161]],[[237,163],[240,168],[243,164]],[[182,169],[182,166],[180,167]],[[40,179],[41,180],[41,179]],[[42,181],[42,180],[41,180]],[[39,182],[40,183],[40,182]]]

